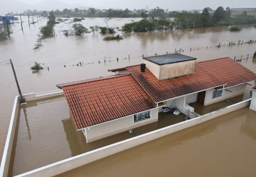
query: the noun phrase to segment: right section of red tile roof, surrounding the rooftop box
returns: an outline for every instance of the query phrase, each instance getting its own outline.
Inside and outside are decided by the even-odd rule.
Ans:
[[[228,57],[196,62],[194,73],[164,81],[159,81],[147,66],[145,72],[140,71],[140,65],[126,68],[155,102],[225,84],[225,87],[230,87],[256,79],[256,74]]]

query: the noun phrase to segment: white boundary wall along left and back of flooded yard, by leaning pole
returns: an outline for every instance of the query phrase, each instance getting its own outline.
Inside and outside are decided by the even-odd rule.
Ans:
[[[43,98],[50,98],[53,96],[63,95],[63,90],[53,90],[49,92],[42,92],[42,93],[31,93],[22,95],[26,101],[32,100],[39,100]],[[11,150],[13,147],[13,140],[15,135],[15,129],[18,119],[18,112],[19,112],[19,98],[20,96],[15,96],[14,104],[13,104],[13,112],[11,114],[11,121],[7,133],[6,144],[4,146],[4,153],[2,157],[1,167],[0,167],[0,177],[7,177],[8,170],[9,170],[9,163],[11,159]]]

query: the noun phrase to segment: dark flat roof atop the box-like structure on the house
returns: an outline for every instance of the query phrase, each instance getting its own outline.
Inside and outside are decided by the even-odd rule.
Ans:
[[[195,60],[196,58],[183,55],[180,53],[171,53],[167,55],[143,57],[143,59],[150,61],[152,63],[156,63],[157,65],[167,65],[167,64],[178,63],[182,61]]]

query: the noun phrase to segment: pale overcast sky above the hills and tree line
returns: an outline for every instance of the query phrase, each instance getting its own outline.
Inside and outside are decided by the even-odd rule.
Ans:
[[[1,0],[7,1],[7,0]],[[44,0],[19,0],[28,4],[36,4]],[[219,6],[232,7],[256,7],[256,0],[60,0],[67,4],[81,4],[82,6],[92,6],[96,8],[129,8],[141,9],[149,6],[150,9],[159,6],[162,9],[182,10],[182,9],[202,9],[211,7],[216,9]]]

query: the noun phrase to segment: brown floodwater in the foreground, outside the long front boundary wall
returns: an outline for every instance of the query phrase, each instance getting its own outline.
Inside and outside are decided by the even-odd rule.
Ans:
[[[255,111],[245,107],[58,177],[254,177],[255,125]]]

